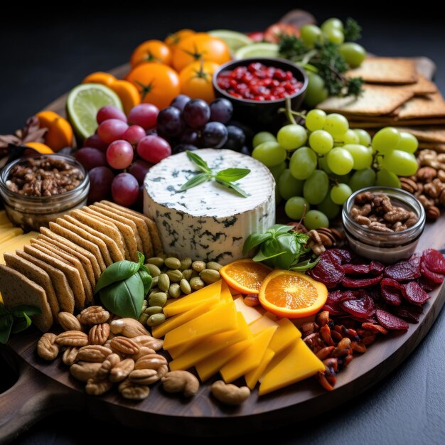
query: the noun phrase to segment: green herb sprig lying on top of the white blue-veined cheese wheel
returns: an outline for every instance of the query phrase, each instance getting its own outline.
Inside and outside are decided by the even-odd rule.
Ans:
[[[221,185],[232,188],[235,192],[239,193],[244,198],[249,196],[242,188],[235,184],[235,181],[239,181],[250,173],[249,168],[225,168],[217,173],[213,173],[212,169],[208,166],[208,163],[204,161],[198,154],[193,153],[193,151],[186,151],[188,159],[190,159],[196,167],[202,171],[202,173],[197,173],[193,178],[189,179],[179,191],[183,192],[195,186],[199,186],[206,181],[214,178],[216,182]]]

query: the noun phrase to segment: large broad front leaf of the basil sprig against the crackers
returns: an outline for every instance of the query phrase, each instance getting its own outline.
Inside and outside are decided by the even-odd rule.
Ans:
[[[110,284],[99,292],[102,304],[121,317],[139,318],[144,301],[144,284],[139,274]]]

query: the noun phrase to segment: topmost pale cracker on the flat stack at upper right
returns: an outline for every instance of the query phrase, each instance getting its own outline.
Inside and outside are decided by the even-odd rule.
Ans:
[[[346,75],[362,77],[365,82],[385,85],[404,85],[415,83],[418,79],[414,60],[392,57],[367,58],[360,67],[349,70]]]

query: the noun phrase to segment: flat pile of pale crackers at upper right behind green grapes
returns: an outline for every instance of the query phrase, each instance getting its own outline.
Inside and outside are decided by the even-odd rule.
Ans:
[[[367,58],[349,77],[363,77],[360,97],[329,97],[318,108],[344,114],[351,128],[400,127],[420,148],[445,152],[445,100],[414,59]]]

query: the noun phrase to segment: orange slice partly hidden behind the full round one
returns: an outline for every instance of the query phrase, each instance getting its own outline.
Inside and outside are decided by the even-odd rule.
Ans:
[[[225,282],[242,294],[258,294],[259,288],[272,269],[250,258],[237,259],[220,269]]]

